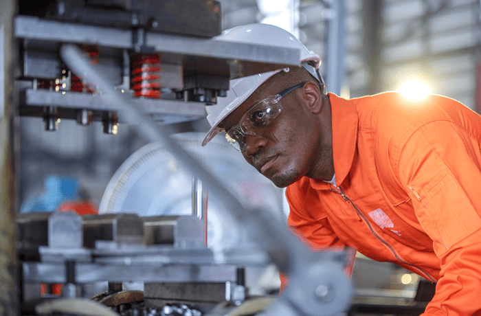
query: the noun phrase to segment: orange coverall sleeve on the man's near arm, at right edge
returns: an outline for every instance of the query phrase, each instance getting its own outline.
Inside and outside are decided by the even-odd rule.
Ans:
[[[399,180],[440,264],[423,316],[481,313],[480,161],[478,139],[449,121],[418,128],[399,155]]]

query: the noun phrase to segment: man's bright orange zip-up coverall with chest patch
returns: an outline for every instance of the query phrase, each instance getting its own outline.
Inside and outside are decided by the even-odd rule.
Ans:
[[[289,185],[289,226],[437,282],[422,315],[481,315],[481,117],[440,95],[329,93],[335,186]]]

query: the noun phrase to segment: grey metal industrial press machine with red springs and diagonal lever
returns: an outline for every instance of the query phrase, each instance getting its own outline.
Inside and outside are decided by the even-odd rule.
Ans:
[[[60,120],[101,122],[109,134],[119,122],[132,124],[151,148],[174,159],[167,166],[190,172],[193,195],[191,214],[137,214],[136,203],[115,207],[118,184],[126,183],[119,177],[102,214],[17,216],[23,315],[338,315],[347,306],[348,251],[309,251],[266,205],[226,188],[162,127],[203,117],[231,78],[297,65],[299,52],[216,39],[221,3],[214,0],[17,4],[14,46],[2,47],[3,54],[20,53],[15,115],[39,117],[47,131]],[[248,242],[207,247],[207,190],[219,221],[228,216]],[[272,263],[289,276],[286,291],[249,295],[246,269]],[[106,292],[82,297],[86,284],[98,282],[108,282]],[[144,290],[124,291],[123,282],[142,282]],[[63,284],[61,297],[39,295],[42,284]]]

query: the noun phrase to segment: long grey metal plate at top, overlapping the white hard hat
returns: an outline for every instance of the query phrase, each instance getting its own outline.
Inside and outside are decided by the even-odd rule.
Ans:
[[[289,65],[296,65],[299,51],[289,47],[269,45],[252,45],[218,41],[215,38],[198,38],[178,36],[159,32],[144,32],[143,47],[155,52],[183,56],[189,59],[194,69],[208,65],[215,67],[214,74],[231,76],[249,76],[258,71],[265,72]],[[50,41],[52,47],[60,43],[78,43],[102,45],[120,49],[135,49],[133,30],[116,27],[103,27],[82,23],[71,23],[41,19],[34,16],[16,16],[14,19],[14,36],[32,40]],[[179,63],[181,63],[179,59]],[[227,61],[222,71],[220,61]],[[212,66],[212,67],[210,67]],[[184,67],[185,69],[188,67]],[[207,71],[209,73],[209,71]]]

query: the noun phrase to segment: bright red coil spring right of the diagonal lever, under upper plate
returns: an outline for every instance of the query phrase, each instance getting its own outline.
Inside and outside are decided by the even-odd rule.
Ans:
[[[132,89],[135,97],[160,98],[159,54],[133,56]]]

